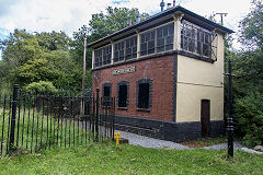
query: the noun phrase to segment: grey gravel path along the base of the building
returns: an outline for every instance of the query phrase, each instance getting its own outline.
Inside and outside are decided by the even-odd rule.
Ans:
[[[176,150],[192,150],[193,149],[193,148],[190,148],[190,147],[186,147],[186,145],[183,145],[183,144],[180,144],[180,143],[175,143],[175,142],[172,142],[172,141],[153,139],[153,138],[139,136],[139,135],[135,135],[135,133],[130,133],[130,132],[126,132],[126,131],[115,130],[115,132],[121,132],[122,138],[128,139],[129,144],[140,145],[140,147],[144,147],[144,148],[156,148],[156,149],[167,149],[167,150],[173,150],[173,149],[176,149]],[[214,144],[214,145],[204,147],[204,148],[201,148],[201,149],[205,149],[205,150],[227,149],[227,143]],[[241,144],[240,142],[237,142],[237,141],[233,142],[233,149],[236,151],[241,150],[241,151],[249,152],[249,153],[263,154],[262,152],[249,149],[249,148],[244,147],[243,144]]]

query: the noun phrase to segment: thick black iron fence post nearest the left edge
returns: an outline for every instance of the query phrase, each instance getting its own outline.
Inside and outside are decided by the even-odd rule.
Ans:
[[[19,84],[13,85],[12,118],[11,118],[11,131],[10,131],[10,141],[9,141],[9,148],[10,148],[9,150],[10,151],[14,150],[14,128],[15,128],[19,88],[20,88]]]

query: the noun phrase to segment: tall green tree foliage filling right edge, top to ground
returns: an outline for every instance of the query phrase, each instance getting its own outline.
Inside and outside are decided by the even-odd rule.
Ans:
[[[242,51],[233,59],[235,124],[247,145],[263,144],[263,4],[252,1],[252,11],[240,22]]]

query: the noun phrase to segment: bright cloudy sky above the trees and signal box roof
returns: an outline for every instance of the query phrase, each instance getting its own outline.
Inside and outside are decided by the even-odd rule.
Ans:
[[[28,32],[64,31],[69,36],[83,24],[91,14],[104,11],[106,7],[138,8],[140,12],[160,12],[161,0],[0,0],[0,39],[14,28]],[[165,3],[172,0],[164,0]],[[226,12],[225,25],[238,31],[238,22],[250,11],[250,0],[176,0],[199,15]],[[219,15],[216,16],[219,21]]]

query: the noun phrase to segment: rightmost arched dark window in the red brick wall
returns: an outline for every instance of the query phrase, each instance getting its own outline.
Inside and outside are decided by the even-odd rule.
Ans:
[[[137,108],[150,108],[151,84],[151,80],[149,79],[141,79],[137,82]]]

